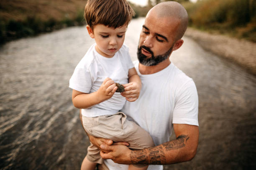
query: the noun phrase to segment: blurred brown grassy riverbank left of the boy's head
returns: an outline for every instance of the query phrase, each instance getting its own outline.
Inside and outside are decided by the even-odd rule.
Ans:
[[[86,0],[1,0],[0,45],[61,28],[83,25]]]

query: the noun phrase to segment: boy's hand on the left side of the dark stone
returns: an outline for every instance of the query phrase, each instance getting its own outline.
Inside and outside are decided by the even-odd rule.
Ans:
[[[97,90],[100,100],[103,102],[105,100],[110,99],[117,90],[115,86],[115,82],[111,78],[106,78],[100,88]]]

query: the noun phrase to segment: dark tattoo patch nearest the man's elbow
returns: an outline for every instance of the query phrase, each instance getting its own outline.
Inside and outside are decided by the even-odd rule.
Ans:
[[[185,142],[187,142],[188,139],[189,137],[187,135],[179,135],[176,140],[164,143],[163,146],[166,148],[166,150],[183,148],[185,146]]]

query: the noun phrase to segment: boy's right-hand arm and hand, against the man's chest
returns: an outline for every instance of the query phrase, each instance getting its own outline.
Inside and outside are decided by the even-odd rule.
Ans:
[[[125,87],[125,91],[121,92],[121,95],[129,102],[133,102],[138,99],[141,92],[141,79],[134,67],[129,69],[128,81],[128,84],[123,85]]]

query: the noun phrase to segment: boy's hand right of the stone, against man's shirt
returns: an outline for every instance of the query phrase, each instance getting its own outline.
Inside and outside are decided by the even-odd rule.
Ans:
[[[141,92],[141,85],[137,82],[129,82],[128,84],[123,85],[125,91],[121,92],[121,95],[125,97],[129,102],[134,102],[138,99]]]

